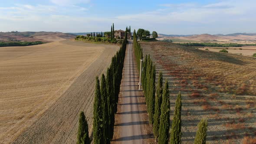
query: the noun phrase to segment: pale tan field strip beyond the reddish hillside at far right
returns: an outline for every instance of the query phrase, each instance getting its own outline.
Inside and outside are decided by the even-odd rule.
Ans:
[[[225,48],[221,48],[221,47],[197,47],[201,50],[205,50],[205,49],[209,49],[212,52],[219,52],[221,49],[225,49]],[[243,46],[243,47],[229,47],[228,49],[226,49],[229,53],[233,53],[233,54],[242,54],[244,56],[253,56],[254,53],[256,53],[256,46]]]

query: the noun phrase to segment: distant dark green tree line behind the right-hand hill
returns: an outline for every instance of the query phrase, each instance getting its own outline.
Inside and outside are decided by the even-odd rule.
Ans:
[[[208,46],[208,47],[242,47],[256,46],[256,44],[239,44],[239,43],[178,43],[182,46]]]

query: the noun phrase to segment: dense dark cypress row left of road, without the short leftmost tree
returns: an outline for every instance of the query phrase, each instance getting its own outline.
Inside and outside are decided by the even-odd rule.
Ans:
[[[96,77],[95,101],[93,108],[93,142],[94,144],[110,144],[113,138],[115,112],[117,111],[118,94],[125,60],[126,41],[112,57],[107,69],[106,78],[102,74],[101,84]]]

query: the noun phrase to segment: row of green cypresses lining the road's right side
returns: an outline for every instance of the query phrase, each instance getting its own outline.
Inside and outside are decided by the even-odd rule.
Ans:
[[[138,34],[138,33],[137,33]],[[143,59],[143,52],[140,44],[137,42],[136,31],[133,33],[133,43],[135,49],[135,59],[140,69],[140,59]],[[145,56],[142,64],[142,88],[144,91],[149,124],[153,125],[153,133],[158,144],[181,144],[181,93],[177,95],[174,117],[172,124],[170,124],[170,99],[169,99],[169,85],[165,80],[163,86],[163,74],[159,72],[158,85],[155,88],[155,65],[149,55]],[[155,92],[156,89],[156,92]],[[169,130],[171,127],[171,136]],[[203,120],[198,124],[198,131],[196,134],[195,144],[205,144],[207,131],[207,121]]]

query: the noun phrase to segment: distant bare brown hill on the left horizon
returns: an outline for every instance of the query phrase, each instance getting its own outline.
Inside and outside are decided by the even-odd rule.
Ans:
[[[53,42],[64,39],[73,39],[75,36],[75,34],[60,32],[1,32],[0,41]]]

